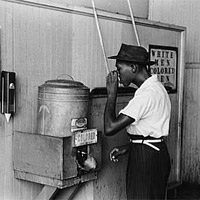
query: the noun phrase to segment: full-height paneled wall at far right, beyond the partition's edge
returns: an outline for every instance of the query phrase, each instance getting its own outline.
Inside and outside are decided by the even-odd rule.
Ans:
[[[184,83],[182,180],[200,183],[200,2],[150,0],[149,19],[187,27]]]

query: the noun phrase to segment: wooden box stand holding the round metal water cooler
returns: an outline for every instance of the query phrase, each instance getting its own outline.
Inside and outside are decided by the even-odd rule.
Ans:
[[[65,188],[79,182],[97,178],[101,167],[101,143],[86,145],[88,155],[95,158],[97,167],[91,171],[77,168],[73,137],[52,137],[33,133],[14,132],[13,162],[15,178],[57,188]]]

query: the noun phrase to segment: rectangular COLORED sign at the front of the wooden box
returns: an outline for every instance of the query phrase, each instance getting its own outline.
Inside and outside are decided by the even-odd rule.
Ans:
[[[97,129],[87,129],[74,132],[74,146],[97,143]]]

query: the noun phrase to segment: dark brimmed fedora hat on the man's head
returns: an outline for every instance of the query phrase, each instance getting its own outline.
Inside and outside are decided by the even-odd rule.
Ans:
[[[154,61],[149,60],[149,53],[145,48],[140,46],[133,46],[122,44],[116,56],[110,56],[109,59],[116,59],[121,61],[128,61],[138,64],[153,65]]]

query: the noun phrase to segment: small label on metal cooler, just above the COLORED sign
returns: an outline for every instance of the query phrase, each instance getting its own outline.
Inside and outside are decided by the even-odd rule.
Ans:
[[[87,118],[80,117],[71,120],[71,132],[87,129]]]

